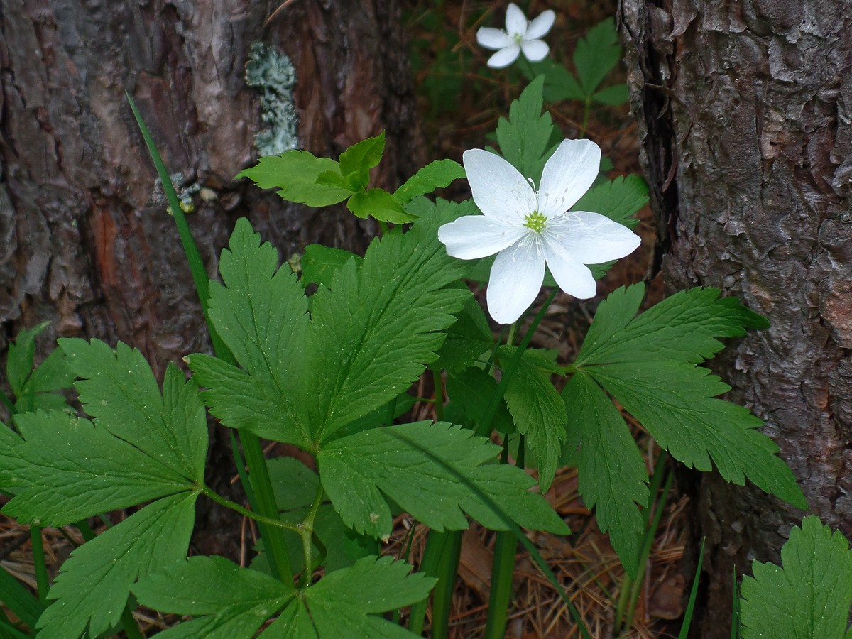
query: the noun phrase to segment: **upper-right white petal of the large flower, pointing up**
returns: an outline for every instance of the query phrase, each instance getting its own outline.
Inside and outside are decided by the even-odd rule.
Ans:
[[[563,140],[542,171],[538,211],[552,217],[583,197],[601,169],[601,148],[590,140]]]

